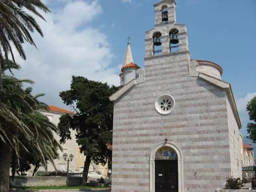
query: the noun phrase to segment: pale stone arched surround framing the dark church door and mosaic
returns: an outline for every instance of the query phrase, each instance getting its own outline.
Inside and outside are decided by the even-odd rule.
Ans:
[[[158,150],[161,149],[167,149],[170,150],[172,149],[173,152],[175,152],[175,154],[172,153],[172,151],[169,151],[169,157],[166,158],[165,161],[172,161],[176,158],[177,160],[177,166],[178,166],[178,192],[184,192],[184,178],[183,178],[183,156],[182,156],[182,151],[180,150],[180,148],[169,141],[166,142],[161,142],[159,144],[157,144],[155,146],[155,148],[153,150],[151,150],[150,152],[150,192],[156,192],[155,190],[155,182],[156,182],[156,166],[155,166],[155,160],[158,159],[156,154],[157,152],[159,152]],[[165,158],[165,157],[164,157]],[[164,160],[164,159],[163,159]]]

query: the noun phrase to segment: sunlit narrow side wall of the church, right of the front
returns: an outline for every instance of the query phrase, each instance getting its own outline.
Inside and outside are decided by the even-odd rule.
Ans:
[[[230,105],[228,97],[227,101],[227,112],[228,112],[228,130],[229,130],[229,141],[230,141],[230,162],[231,162],[231,176],[242,177],[242,166],[241,166],[241,149],[240,149],[240,135],[238,124],[234,116],[234,112]]]

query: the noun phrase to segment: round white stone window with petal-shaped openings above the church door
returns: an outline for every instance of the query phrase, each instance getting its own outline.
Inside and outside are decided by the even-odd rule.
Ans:
[[[171,95],[164,94],[159,96],[155,102],[155,109],[160,114],[169,114],[175,106],[174,98]]]

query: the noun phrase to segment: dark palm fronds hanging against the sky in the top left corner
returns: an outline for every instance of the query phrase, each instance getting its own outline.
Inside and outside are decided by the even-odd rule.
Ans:
[[[41,0],[0,0],[0,63],[8,62],[8,54],[11,55],[15,62],[12,51],[12,42],[22,57],[26,60],[26,54],[22,47],[22,43],[28,42],[36,47],[36,44],[30,33],[35,30],[43,37],[43,32],[36,20],[24,10],[26,8],[36,16],[44,17],[36,8],[47,13],[50,9],[41,2]],[[0,65],[0,71],[1,65]],[[0,89],[2,86],[2,77],[0,73]]]

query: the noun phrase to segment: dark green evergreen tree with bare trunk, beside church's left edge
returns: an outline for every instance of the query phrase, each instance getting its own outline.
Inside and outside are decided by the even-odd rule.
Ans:
[[[109,96],[116,92],[115,86],[72,76],[70,90],[60,92],[67,106],[72,106],[76,114],[60,118],[60,143],[71,139],[70,130],[76,130],[76,142],[80,152],[86,155],[83,183],[86,184],[90,162],[106,164],[112,158],[113,103]]]

